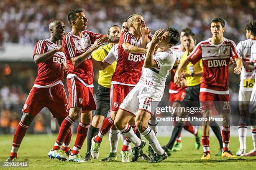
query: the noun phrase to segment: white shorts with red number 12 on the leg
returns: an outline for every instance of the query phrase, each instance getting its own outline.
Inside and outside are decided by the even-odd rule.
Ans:
[[[145,110],[154,115],[157,105],[161,101],[162,92],[152,87],[136,85],[125,97],[119,109],[130,112],[134,116],[138,110]]]

